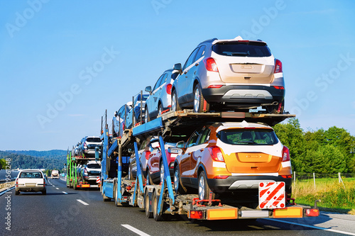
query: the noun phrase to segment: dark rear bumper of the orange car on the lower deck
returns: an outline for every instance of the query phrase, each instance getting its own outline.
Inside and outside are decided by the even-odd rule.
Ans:
[[[234,191],[257,190],[260,182],[285,182],[285,189],[288,191],[292,185],[292,179],[282,176],[229,176],[226,179],[207,179],[209,189],[215,193]]]

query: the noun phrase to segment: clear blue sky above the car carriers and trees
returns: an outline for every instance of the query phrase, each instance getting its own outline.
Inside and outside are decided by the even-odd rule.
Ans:
[[[285,111],[355,135],[355,1],[0,0],[0,150],[66,150],[198,43],[238,35],[283,62]]]

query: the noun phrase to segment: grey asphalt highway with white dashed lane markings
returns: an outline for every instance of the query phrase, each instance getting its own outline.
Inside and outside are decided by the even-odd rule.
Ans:
[[[97,190],[73,190],[49,179],[47,195],[0,193],[0,235],[354,235],[355,215],[197,221],[174,215],[155,222],[136,207],[102,201]],[[1,222],[2,221],[2,222]]]

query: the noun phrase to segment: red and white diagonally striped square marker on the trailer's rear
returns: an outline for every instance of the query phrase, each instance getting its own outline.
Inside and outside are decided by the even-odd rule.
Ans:
[[[285,208],[285,182],[261,182],[259,207],[261,209]]]

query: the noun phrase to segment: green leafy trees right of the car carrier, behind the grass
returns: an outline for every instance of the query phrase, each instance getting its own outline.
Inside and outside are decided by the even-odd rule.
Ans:
[[[344,128],[305,132],[297,118],[274,126],[290,150],[293,171],[300,173],[355,173],[355,137]]]

